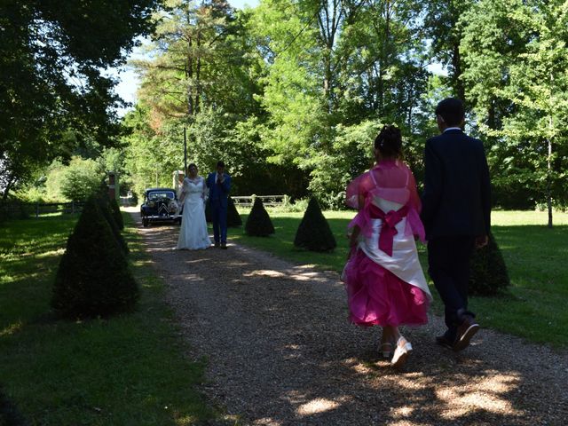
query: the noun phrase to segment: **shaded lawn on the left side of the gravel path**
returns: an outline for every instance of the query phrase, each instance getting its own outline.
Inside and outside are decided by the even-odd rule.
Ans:
[[[0,228],[0,385],[31,425],[186,425],[214,417],[194,389],[204,362],[162,302],[162,281],[124,215],[137,312],[67,322],[51,317],[51,286],[76,216]],[[2,414],[0,413],[0,421]],[[1,422],[0,422],[1,423]]]

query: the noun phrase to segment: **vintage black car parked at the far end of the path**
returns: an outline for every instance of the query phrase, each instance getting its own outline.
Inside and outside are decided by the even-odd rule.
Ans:
[[[148,188],[144,194],[144,203],[140,206],[142,225],[153,222],[181,223],[181,211],[178,211],[176,191],[171,188]]]

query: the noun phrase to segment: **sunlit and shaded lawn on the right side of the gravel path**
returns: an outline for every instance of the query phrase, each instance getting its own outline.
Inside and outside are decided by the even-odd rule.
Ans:
[[[248,211],[241,211],[243,228]],[[345,231],[354,216],[352,211],[324,212],[337,241],[333,253],[313,253],[294,248],[296,229],[303,213],[269,210],[276,233],[268,238],[249,237],[242,228],[233,228],[233,241],[259,248],[296,264],[313,264],[320,269],[341,272],[347,253]],[[471,297],[469,307],[477,312],[484,327],[518,335],[534,343],[551,343],[568,348],[568,214],[556,213],[548,229],[547,213],[539,211],[494,211],[493,234],[498,242],[511,278],[509,291],[496,297]],[[424,271],[427,271],[426,248],[418,244]],[[428,274],[426,274],[428,278]],[[432,309],[442,314],[436,290]]]

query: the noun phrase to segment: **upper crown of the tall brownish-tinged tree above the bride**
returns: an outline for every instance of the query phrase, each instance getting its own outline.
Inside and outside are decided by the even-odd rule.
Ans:
[[[225,0],[170,0],[158,21],[154,58],[134,61],[142,75],[139,98],[156,120],[193,116],[205,106],[243,114],[255,106],[253,67],[241,37],[241,20]]]

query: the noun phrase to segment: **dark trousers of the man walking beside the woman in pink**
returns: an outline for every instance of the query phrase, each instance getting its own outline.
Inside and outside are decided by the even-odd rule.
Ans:
[[[428,272],[445,306],[446,337],[454,341],[459,314],[468,313],[469,260],[475,237],[436,237],[428,241]]]

